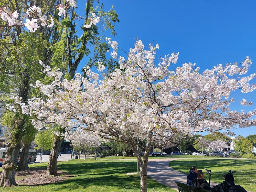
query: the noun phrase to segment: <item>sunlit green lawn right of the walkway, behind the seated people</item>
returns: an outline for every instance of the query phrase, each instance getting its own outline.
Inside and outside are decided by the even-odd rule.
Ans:
[[[188,157],[188,156],[186,156]],[[196,158],[196,159],[178,159],[169,163],[170,167],[182,173],[188,174],[191,166],[202,169],[205,179],[209,181],[209,175],[204,170],[211,170],[211,182],[222,183],[222,175],[228,173],[228,170],[236,171],[234,173],[235,184],[241,185],[248,191],[256,192],[256,159],[235,159],[235,158]]]

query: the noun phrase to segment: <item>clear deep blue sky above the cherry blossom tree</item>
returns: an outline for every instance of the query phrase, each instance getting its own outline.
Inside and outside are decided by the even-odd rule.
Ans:
[[[256,1],[101,2],[105,10],[114,5],[119,15],[120,23],[115,24],[118,35],[112,40],[117,41],[118,47],[125,52],[134,46],[137,37],[145,47],[151,42],[158,43],[158,56],[179,52],[173,69],[185,62],[195,62],[202,72],[219,63],[240,63],[249,56],[253,63],[249,73],[256,72]],[[236,103],[233,110],[254,110],[254,95],[255,91],[249,94],[236,91],[232,94],[234,98],[245,98],[254,104],[245,107]],[[255,127],[239,128],[234,132],[242,136],[256,134]]]

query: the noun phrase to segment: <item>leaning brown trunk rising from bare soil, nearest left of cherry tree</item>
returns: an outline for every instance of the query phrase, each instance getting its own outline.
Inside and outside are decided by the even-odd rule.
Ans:
[[[51,153],[49,156],[49,163],[47,167],[47,173],[45,174],[46,178],[50,178],[51,176],[58,176],[57,173],[57,160],[58,160],[58,153],[59,148],[62,143],[60,138],[54,138],[53,146],[51,149]]]

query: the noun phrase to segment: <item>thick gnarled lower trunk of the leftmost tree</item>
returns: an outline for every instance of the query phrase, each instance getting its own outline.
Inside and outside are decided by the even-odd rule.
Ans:
[[[7,145],[5,161],[3,162],[3,171],[0,176],[0,186],[11,187],[17,185],[15,181],[15,169],[17,167],[17,159],[20,151],[20,143],[15,147]]]

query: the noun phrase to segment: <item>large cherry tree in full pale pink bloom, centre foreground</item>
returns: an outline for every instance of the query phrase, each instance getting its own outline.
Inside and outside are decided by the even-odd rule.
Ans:
[[[17,98],[17,103],[23,113],[37,116],[36,127],[50,122],[72,129],[76,126],[105,140],[127,143],[140,165],[140,191],[147,191],[148,152],[153,147],[178,143],[187,134],[219,130],[230,133],[233,126],[255,125],[251,119],[255,111],[229,108],[230,102],[234,102],[230,98],[232,91],[241,89],[247,93],[255,89],[249,84],[255,73],[246,76],[251,65],[249,57],[240,64],[220,64],[201,73],[192,63],[172,71],[169,66],[176,63],[178,53],[155,64],[159,46],[149,44],[149,49],[144,50],[142,41],[137,40],[125,59],[117,57],[118,43],[106,40],[120,69],[99,80],[99,74],[85,68],[88,78],[77,74],[69,81],[62,80],[63,73],[46,68],[55,80],[50,84],[37,82],[36,87],[47,99],[34,97],[25,105]],[[241,104],[251,103],[243,100]],[[145,140],[146,145],[135,142],[137,137]],[[143,162],[137,145],[145,150]]]

